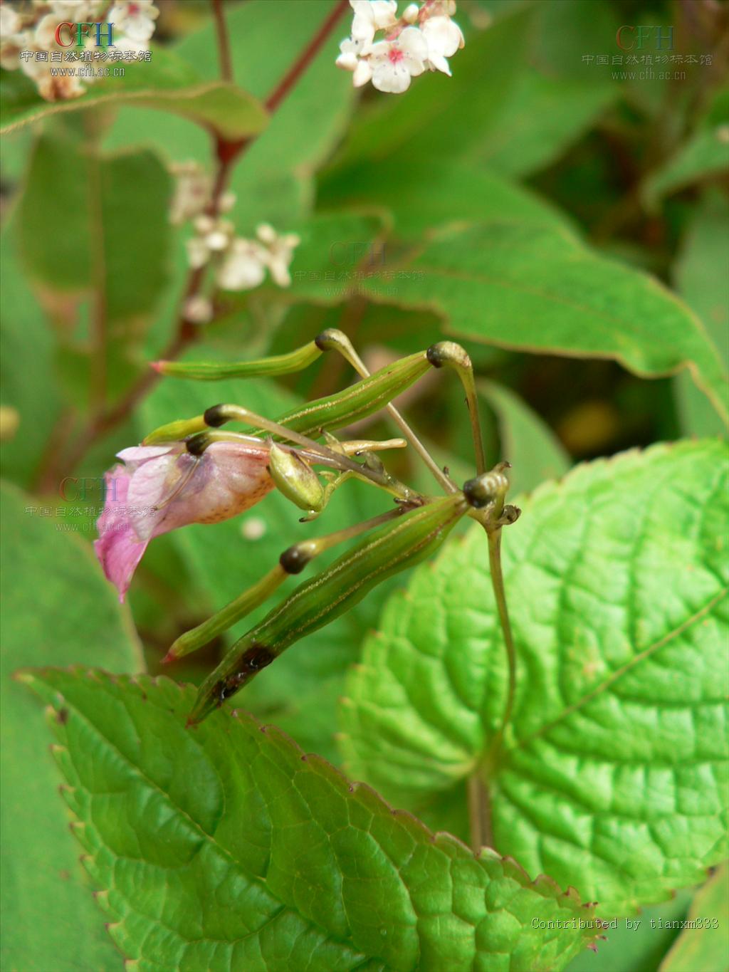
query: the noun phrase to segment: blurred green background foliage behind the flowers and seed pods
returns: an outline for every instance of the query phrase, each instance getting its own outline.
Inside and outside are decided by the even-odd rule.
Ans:
[[[208,4],[159,7],[159,87],[174,93],[186,72],[217,79]],[[329,10],[329,0],[226,3],[237,85],[264,98]],[[581,460],[719,434],[729,351],[729,8],[714,0],[461,0],[458,20],[467,44],[453,79],[428,75],[399,97],[355,92],[334,69],[340,24],[230,181],[239,232],[265,220],[301,235],[294,284],[230,295],[185,357],[280,353],[336,327],[374,368],[454,335],[476,368],[489,457],[511,460],[517,492]],[[671,81],[618,77],[631,70],[612,63],[623,53],[621,24],[673,25],[673,53],[708,54],[711,63],[653,68],[682,73]],[[7,90],[15,79],[3,72],[2,82]],[[47,807],[50,762],[37,770],[37,792],[18,781],[18,766],[35,765],[45,742],[12,672],[83,662],[154,674],[180,633],[257,579],[295,538],[382,508],[355,484],[321,521],[302,526],[271,495],[242,518],[156,539],[128,607],[115,604],[89,544],[100,477],[119,449],[217,401],[274,416],[353,377],[329,357],[278,382],[144,377],[172,338],[187,276],[189,230],[167,218],[168,166],[210,164],[211,153],[199,118],[128,95],[120,85],[119,105],[81,99],[70,107],[86,110],[33,123],[23,123],[19,102],[4,111],[4,815],[17,842],[33,844],[46,862],[48,878],[30,887],[27,861],[6,862],[25,916],[8,919],[6,950],[32,955],[27,968],[48,967],[50,949],[63,952],[55,931],[37,934],[36,920],[54,914],[44,923],[57,931],[69,907],[77,946],[78,923],[88,925],[87,953],[73,967],[117,968],[120,960],[87,898],[74,898],[73,847],[62,812]],[[201,111],[237,131],[257,123],[243,94]],[[460,478],[472,474],[455,381],[429,375],[399,403],[444,465]],[[114,421],[102,421],[109,414]],[[357,434],[386,429],[373,420]],[[401,477],[427,486],[409,457],[398,464]],[[246,707],[337,762],[335,702],[387,593],[296,646],[273,677],[247,689]],[[170,674],[197,680],[224,647]],[[61,901],[57,874],[69,887]],[[646,913],[641,930],[616,933],[573,969],[658,968],[676,932],[659,934],[648,919],[680,916],[690,898]]]

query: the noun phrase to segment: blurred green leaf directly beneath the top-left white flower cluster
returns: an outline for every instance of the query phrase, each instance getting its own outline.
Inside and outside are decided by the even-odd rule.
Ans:
[[[172,52],[156,48],[149,63],[124,63],[123,70],[123,77],[101,78],[67,101],[46,101],[21,71],[0,70],[0,131],[60,113],[123,104],[183,115],[228,139],[256,135],[265,127],[266,113],[253,95],[234,85],[203,82]]]

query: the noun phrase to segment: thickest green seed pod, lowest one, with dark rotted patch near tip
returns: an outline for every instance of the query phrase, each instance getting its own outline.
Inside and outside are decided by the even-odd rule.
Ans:
[[[300,584],[235,642],[200,685],[188,723],[200,722],[222,706],[290,644],[329,624],[381,581],[429,557],[468,508],[463,493],[456,493],[410,510]]]

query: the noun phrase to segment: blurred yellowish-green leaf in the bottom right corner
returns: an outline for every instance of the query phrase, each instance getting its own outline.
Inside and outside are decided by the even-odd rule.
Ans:
[[[723,864],[693,900],[688,922],[674,947],[661,962],[660,972],[715,972],[729,970],[726,950],[726,916],[729,914],[729,866]]]

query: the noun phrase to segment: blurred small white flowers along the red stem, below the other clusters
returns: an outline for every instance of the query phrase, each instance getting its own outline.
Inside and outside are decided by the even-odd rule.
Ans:
[[[261,223],[256,238],[235,235],[235,227],[223,218],[235,203],[232,192],[224,192],[218,201],[217,216],[209,213],[212,180],[196,162],[171,166],[177,177],[170,206],[170,221],[181,225],[191,220],[194,236],[187,240],[188,261],[193,269],[213,263],[215,281],[226,291],[249,291],[265,279],[266,271],[279,287],[289,287],[289,267],[300,239],[295,233],[277,233],[273,226]],[[211,301],[202,295],[191,297],[185,315],[193,324],[204,324],[213,316]]]

